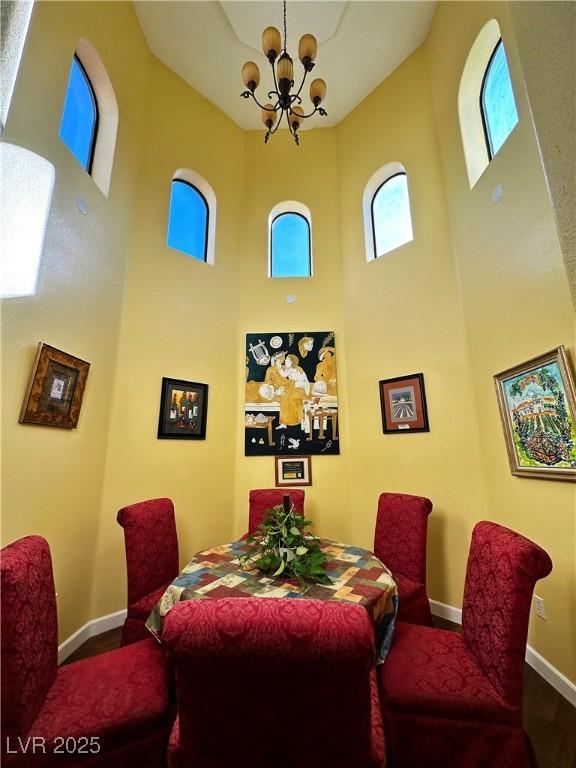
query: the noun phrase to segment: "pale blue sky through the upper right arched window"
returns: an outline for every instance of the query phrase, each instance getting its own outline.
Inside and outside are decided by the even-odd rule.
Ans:
[[[502,40],[498,43],[484,80],[482,111],[490,142],[490,153],[494,157],[518,122],[518,112]]]

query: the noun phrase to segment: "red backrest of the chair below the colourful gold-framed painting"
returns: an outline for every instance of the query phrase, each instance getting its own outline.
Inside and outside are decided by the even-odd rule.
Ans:
[[[462,635],[490,682],[512,706],[522,704],[534,584],[551,570],[547,553],[519,533],[490,522],[474,527]]]

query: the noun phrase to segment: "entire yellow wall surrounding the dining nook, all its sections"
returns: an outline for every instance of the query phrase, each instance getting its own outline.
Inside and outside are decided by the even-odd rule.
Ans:
[[[491,15],[520,124],[470,191],[457,91]],[[262,133],[240,131],[148,53],[130,4],[37,4],[5,139],[54,162],[57,182],[39,293],[3,302],[3,540],[50,541],[62,638],[125,606],[124,504],[173,498],[183,561],[245,530],[249,489],[274,479],[272,458],[243,456],[245,333],[326,329],[336,333],[342,453],[313,457],[306,510],[317,532],[370,546],[380,492],[429,496],[429,593],[455,606],[474,523],[525,533],[554,561],[537,587],[549,618],[532,622],[530,642],[576,679],[574,489],[510,475],[492,384],[560,343],[574,349],[509,32],[503,3],[440,3],[428,41],[337,128],[304,132],[299,148],[283,133],[264,147]],[[109,199],[57,137],[80,36],[119,102]],[[408,172],[415,238],[367,264],[362,192],[393,160]],[[170,180],[186,167],[216,194],[214,266],[165,245]],[[288,199],[311,210],[312,280],[267,277],[268,214]],[[92,362],[77,430],[16,423],[40,339]],[[378,381],[420,371],[430,432],[384,435]],[[156,439],[162,376],[208,383],[206,441]]]

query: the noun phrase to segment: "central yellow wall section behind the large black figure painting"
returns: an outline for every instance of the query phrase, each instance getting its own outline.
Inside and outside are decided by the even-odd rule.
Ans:
[[[258,331],[334,331],[338,375],[345,371],[346,342],[342,324],[338,173],[336,136],[331,129],[304,131],[299,147],[286,131],[264,147],[263,134],[246,134],[241,282],[237,322],[236,392],[241,414],[246,381],[245,334]],[[308,206],[312,218],[312,279],[275,278],[268,275],[268,216],[277,203],[296,200]],[[286,302],[293,294],[296,301]],[[339,380],[338,396],[345,413],[346,386]],[[237,418],[237,480],[234,533],[246,530],[248,492],[274,487],[273,457],[244,454],[244,424]],[[306,514],[317,533],[345,538],[350,533],[348,485],[348,423],[339,422],[344,446],[340,456],[312,459],[313,485],[305,488]]]

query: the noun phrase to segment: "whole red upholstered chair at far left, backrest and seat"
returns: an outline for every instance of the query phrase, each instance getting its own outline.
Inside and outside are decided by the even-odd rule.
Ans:
[[[58,668],[48,543],[27,536],[0,555],[2,765],[165,764],[171,722],[158,645],[149,639]]]

